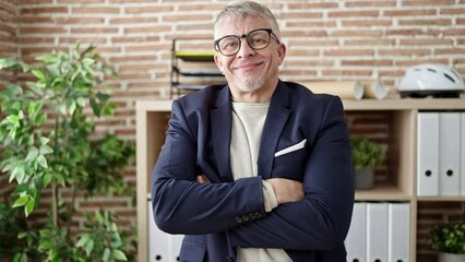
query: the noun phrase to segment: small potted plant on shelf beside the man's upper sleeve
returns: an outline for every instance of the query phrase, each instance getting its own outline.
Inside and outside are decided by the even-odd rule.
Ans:
[[[381,145],[367,136],[350,140],[351,157],[355,168],[355,189],[371,189],[374,186],[374,168],[384,162]]]

